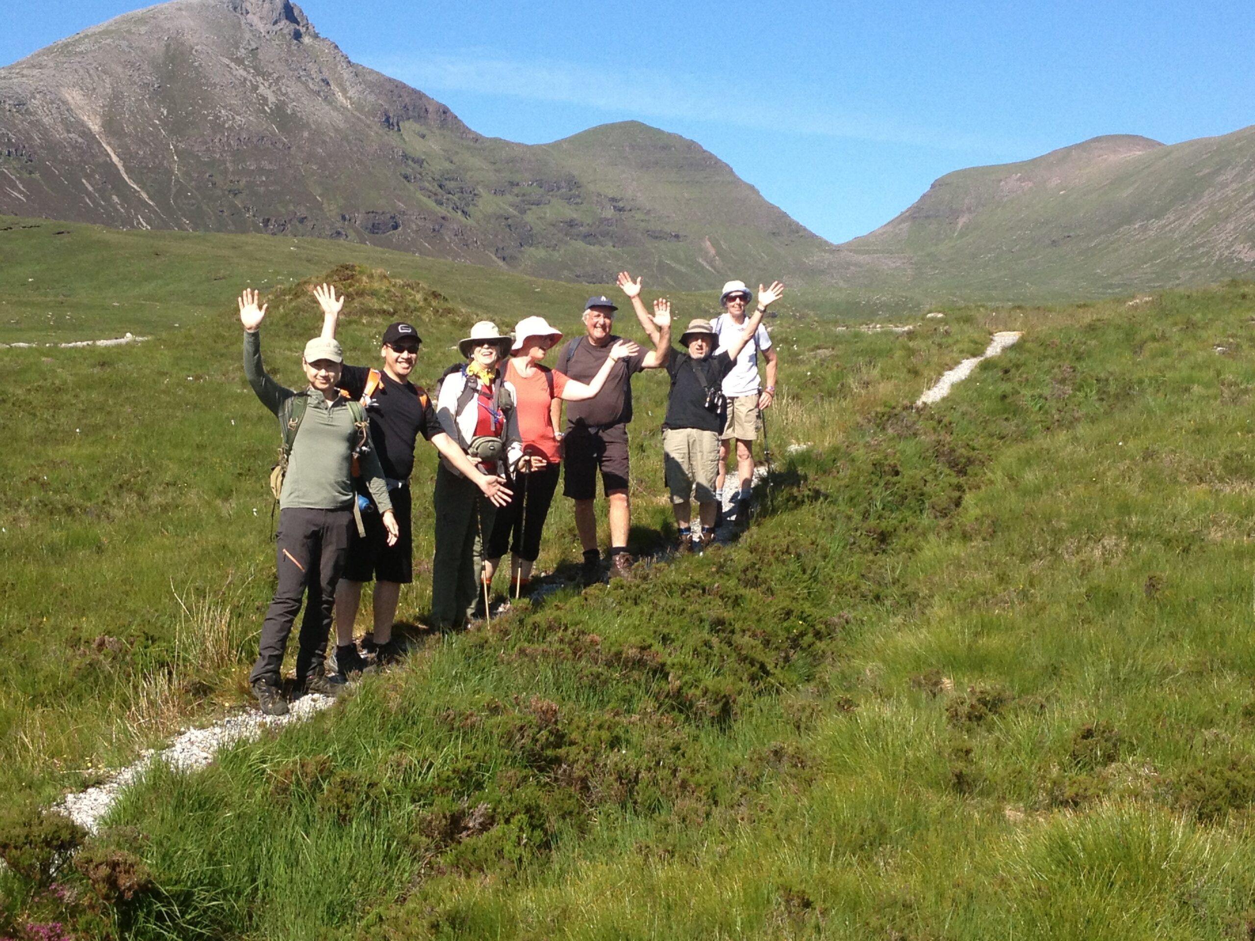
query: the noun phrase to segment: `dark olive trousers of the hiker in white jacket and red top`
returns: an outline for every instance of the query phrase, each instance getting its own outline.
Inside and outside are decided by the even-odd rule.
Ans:
[[[497,508],[479,488],[441,462],[435,472],[435,557],[432,560],[432,626],[461,627],[474,616],[483,543]]]

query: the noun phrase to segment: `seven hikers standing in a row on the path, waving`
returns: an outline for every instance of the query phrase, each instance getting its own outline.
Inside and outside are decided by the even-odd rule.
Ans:
[[[614,332],[619,307],[597,295],[585,304],[584,334],[562,346],[552,368],[541,363],[562,332],[543,317],[525,317],[512,334],[483,320],[458,344],[466,361],[449,366],[433,394],[409,380],[422,344],[412,324],[398,321],[384,331],[382,368],[344,363],[335,339],[344,297],[331,285],[314,290],[323,332],[305,344],[301,356],[307,388],[280,385],[261,360],[259,330],[266,305],[259,306],[256,290],[241,294],[245,375],[282,433],[280,463],[271,476],[279,501],[279,578],[250,674],[264,713],[287,713],[280,669],[302,598],[296,679],[304,691],[339,695],[371,660],[384,665],[399,656],[393,622],[400,586],[413,581],[410,478],[419,435],[441,454],[433,497],[434,629],[464,626],[479,605],[487,614],[492,580],[507,551],[511,593],[528,591],[563,464],[562,493],[575,501],[584,548],[582,582],[602,577],[594,511],[599,473],[609,503],[609,573],[631,577],[628,424],[631,378],[641,370],[665,369],[670,375],[663,454],[676,550],[708,546],[720,509],[747,519],[753,443],[761,437],[762,412],[776,395],[776,350],[762,319],[784,286],[759,285],[749,314],[754,295],[744,282],[729,281],[719,299],[723,311],[713,321],[690,320],[673,349],[670,301],[660,297],[650,311],[641,299],[641,279],[625,271],[617,284],[650,349]],[[735,473],[729,474],[733,445]],[[363,640],[363,656],[354,622],[363,586],[371,581],[374,624]],[[329,673],[333,621],[336,645]]]

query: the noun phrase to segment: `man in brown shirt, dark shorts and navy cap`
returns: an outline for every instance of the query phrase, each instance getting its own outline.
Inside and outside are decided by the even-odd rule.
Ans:
[[[591,383],[601,370],[610,350],[619,341],[614,335],[617,307],[605,295],[590,297],[584,305],[584,336],[562,348],[555,368],[571,379]],[[666,365],[671,349],[671,304],[654,301],[651,324],[658,331],[655,348],[640,350],[635,356],[619,360],[601,391],[591,399],[572,401],[566,407],[566,434],[562,439],[562,493],[575,501],[575,528],[584,547],[581,578],[586,585],[601,575],[601,552],[597,550],[597,518],[594,498],[597,473],[601,489],[610,504],[610,573],[626,575],[631,568],[628,555],[628,529],[631,508],[628,503],[628,423],[631,422],[631,378],[643,369]]]

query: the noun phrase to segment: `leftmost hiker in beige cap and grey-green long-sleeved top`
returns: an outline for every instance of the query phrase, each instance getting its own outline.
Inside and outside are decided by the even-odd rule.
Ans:
[[[240,296],[243,371],[261,403],[275,413],[281,428],[289,429],[291,448],[279,496],[279,586],[266,611],[257,662],[248,680],[261,710],[284,715],[287,703],[280,686],[280,667],[302,596],[307,595],[296,654],[297,683],[306,693],[331,696],[344,689],[343,679],[326,675],[325,659],[335,586],[344,571],[354,526],[354,457],[383,517],[389,543],[397,541],[398,529],[388,484],[379,459],[369,449],[366,429],[359,427],[349,399],[335,386],[344,359],[340,344],[324,338],[305,344],[301,368],[309,386],[304,391],[286,389],[261,363],[259,327],[265,315],[266,307],[257,306],[257,291],[246,290]]]

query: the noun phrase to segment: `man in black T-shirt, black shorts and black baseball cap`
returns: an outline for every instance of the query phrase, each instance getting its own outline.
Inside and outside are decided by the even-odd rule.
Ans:
[[[335,289],[329,285],[315,287],[314,296],[323,307],[323,336],[334,339],[344,296],[336,297]],[[418,435],[422,434],[435,445],[493,503],[503,506],[510,502],[511,493],[505,488],[505,478],[484,474],[476,467],[457,442],[441,429],[434,404],[427,393],[409,381],[422,343],[410,324],[389,324],[379,349],[383,356],[382,370],[349,365],[340,370],[339,386],[360,399],[366,408],[371,444],[388,479],[388,493],[400,527],[397,545],[388,546],[378,516],[363,512],[366,534],[364,538],[354,536],[349,543],[349,561],[335,592],[335,660],[345,676],[366,666],[353,640],[353,625],[365,582],[375,581],[371,642],[378,651],[376,659],[387,662],[398,652],[392,637],[397,602],[400,586],[414,580],[409,477],[414,469],[414,444]]]

